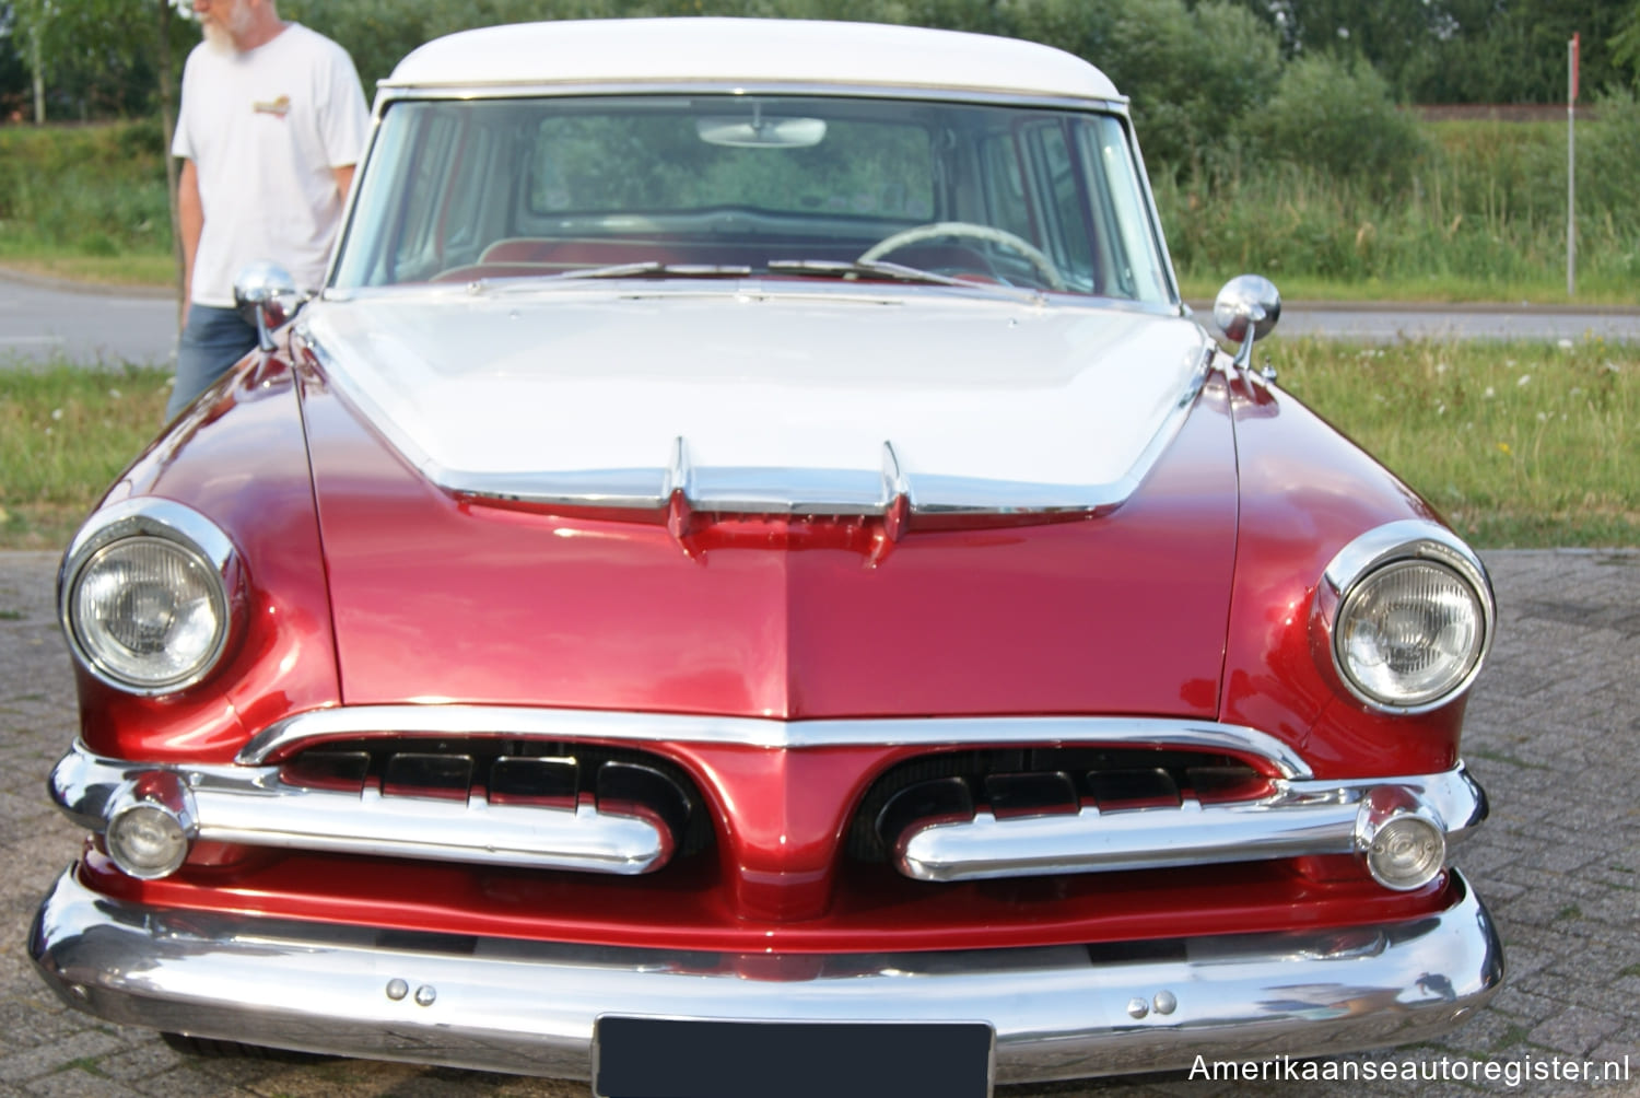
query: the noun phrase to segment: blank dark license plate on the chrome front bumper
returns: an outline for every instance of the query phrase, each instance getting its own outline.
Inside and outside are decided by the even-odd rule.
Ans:
[[[722,1023],[607,1014],[599,1098],[989,1098],[984,1023]]]

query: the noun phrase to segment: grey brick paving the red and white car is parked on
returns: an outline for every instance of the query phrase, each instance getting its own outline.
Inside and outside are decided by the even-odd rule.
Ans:
[[[1005,1087],[999,1098],[1640,1096],[1640,553],[1506,551],[1487,565],[1502,620],[1469,704],[1465,757],[1491,794],[1492,817],[1456,849],[1455,862],[1489,903],[1507,945],[1509,981],[1492,1004],[1438,1042],[1345,1057],[1378,1068],[1369,1083],[1246,1085],[1174,1073]],[[34,906],[80,844],[43,791],[75,727],[51,606],[54,570],[52,555],[0,553],[0,1098],[585,1098],[584,1083],[364,1060],[200,1060],[151,1032],[61,1006],[25,952]],[[1445,1064],[1451,1075],[1453,1064],[1519,1070],[1555,1057],[1629,1057],[1629,1080],[1510,1088],[1506,1080],[1381,1078],[1391,1064],[1437,1075]],[[1328,1067],[1340,1064],[1315,1064]]]

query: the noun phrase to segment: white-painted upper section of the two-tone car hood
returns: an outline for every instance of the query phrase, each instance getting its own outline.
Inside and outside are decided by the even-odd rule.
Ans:
[[[1176,317],[951,294],[551,287],[317,309],[333,384],[459,492],[708,510],[1120,502],[1182,419]]]

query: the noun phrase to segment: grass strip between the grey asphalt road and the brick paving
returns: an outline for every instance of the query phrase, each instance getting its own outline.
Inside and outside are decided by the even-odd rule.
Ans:
[[[1640,346],[1274,338],[1264,358],[1481,548],[1640,545]],[[0,369],[0,548],[66,545],[159,428],[169,382]]]

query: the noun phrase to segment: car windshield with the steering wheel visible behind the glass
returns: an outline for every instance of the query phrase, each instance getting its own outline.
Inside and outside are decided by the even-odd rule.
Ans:
[[[812,95],[392,103],[333,284],[630,264],[1173,300],[1122,118]]]

